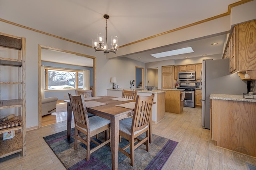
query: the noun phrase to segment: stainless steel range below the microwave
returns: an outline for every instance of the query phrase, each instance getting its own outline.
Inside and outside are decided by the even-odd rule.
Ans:
[[[185,107],[195,107],[195,89],[196,83],[180,83],[178,89],[184,89],[185,99],[183,101],[183,106]]]

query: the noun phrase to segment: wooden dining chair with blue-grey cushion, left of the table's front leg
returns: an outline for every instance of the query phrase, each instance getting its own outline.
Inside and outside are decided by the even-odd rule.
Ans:
[[[83,142],[87,149],[86,149],[86,160],[90,160],[90,154],[92,152],[98,150],[102,146],[108,144],[110,142],[110,138],[105,140],[102,143],[97,142],[92,138],[101,132],[106,130],[110,130],[110,121],[108,119],[104,119],[102,117],[93,116],[88,117],[88,113],[86,110],[86,105],[84,102],[83,95],[71,95],[68,93],[70,104],[73,110],[74,121],[75,121],[75,143],[74,149],[77,149],[78,140]],[[86,134],[85,137],[82,137],[80,134]],[[108,135],[108,133],[105,135]],[[106,136],[105,136],[106,139]],[[91,149],[91,142],[95,143],[97,146]]]

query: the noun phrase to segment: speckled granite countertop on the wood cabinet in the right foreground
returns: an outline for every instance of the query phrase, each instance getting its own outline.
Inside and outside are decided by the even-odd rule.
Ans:
[[[256,102],[256,99],[245,99],[243,95],[211,94],[210,99]]]

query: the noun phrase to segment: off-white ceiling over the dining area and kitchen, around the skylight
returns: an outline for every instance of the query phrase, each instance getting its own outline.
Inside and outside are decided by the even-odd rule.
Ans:
[[[110,16],[107,25],[108,40],[110,40],[110,36],[118,36],[119,46],[122,46],[224,14],[228,12],[229,4],[238,1],[0,0],[0,16],[8,22],[91,46],[92,39],[96,38],[96,34],[105,34],[106,20],[103,18],[103,15],[108,14]],[[225,40],[226,34],[214,35],[212,37],[171,44],[125,57],[148,63],[166,59],[199,57],[203,54],[221,54]],[[213,42],[218,42],[218,44],[211,45]],[[188,46],[191,46],[195,52],[160,59],[150,55]],[[122,50],[122,47],[119,50]],[[48,55],[50,55],[50,52],[54,51],[47,51]],[[51,61],[53,58],[44,56],[42,55],[42,60]],[[61,59],[55,58],[57,61],[54,62],[64,62],[66,57],[62,56]],[[138,57],[141,58],[138,59]],[[79,58],[74,59],[73,62],[74,64],[79,63]]]

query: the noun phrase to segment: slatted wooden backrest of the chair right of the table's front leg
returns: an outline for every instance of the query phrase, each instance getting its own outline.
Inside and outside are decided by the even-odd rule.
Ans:
[[[152,105],[154,102],[154,94],[147,97],[136,97],[134,114],[132,118],[132,134],[134,132],[145,128],[149,121],[152,112]]]

